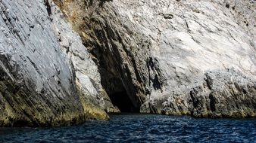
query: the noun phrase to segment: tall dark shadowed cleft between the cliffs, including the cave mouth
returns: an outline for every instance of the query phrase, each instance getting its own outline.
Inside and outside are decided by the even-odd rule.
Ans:
[[[96,20],[96,21],[94,21]],[[93,19],[91,21],[95,26],[101,26],[101,21]],[[89,25],[92,25],[90,23]],[[105,25],[104,23],[103,25]],[[126,113],[139,113],[140,99],[136,96],[136,89],[131,80],[130,71],[127,67],[123,66],[123,57],[118,47],[118,42],[122,43],[120,39],[116,39],[115,31],[111,31],[111,26],[95,28],[94,33],[101,44],[87,43],[86,47],[94,47],[89,50],[95,56],[94,62],[98,65],[98,71],[101,75],[101,85],[108,94],[114,106],[119,108],[120,112]],[[111,41],[111,42],[110,42]]]

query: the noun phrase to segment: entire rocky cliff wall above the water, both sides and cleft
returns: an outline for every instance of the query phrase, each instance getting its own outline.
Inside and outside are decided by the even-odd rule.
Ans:
[[[67,125],[119,110],[256,116],[254,1],[0,7],[0,126]]]

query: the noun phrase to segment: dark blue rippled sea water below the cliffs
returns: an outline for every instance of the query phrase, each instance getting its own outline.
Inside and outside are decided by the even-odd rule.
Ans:
[[[0,142],[256,142],[256,120],[111,115],[79,126],[0,129]]]

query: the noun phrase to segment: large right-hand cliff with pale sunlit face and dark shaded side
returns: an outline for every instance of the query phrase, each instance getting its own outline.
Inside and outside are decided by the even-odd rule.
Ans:
[[[255,116],[254,1],[55,2],[114,105],[128,96],[131,111]]]

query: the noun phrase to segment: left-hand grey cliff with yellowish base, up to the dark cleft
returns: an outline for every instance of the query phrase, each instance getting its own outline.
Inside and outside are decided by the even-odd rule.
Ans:
[[[103,96],[90,98],[100,95],[100,79],[97,70],[87,76],[86,71],[97,67],[52,4],[0,1],[0,126],[59,126],[108,119],[98,106]],[[70,52],[62,52],[67,44]],[[79,56],[90,69],[77,68]]]

